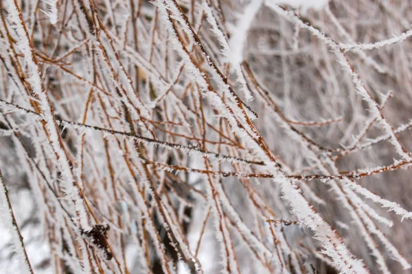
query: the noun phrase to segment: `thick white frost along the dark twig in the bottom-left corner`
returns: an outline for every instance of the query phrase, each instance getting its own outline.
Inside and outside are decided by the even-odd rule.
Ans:
[[[10,234],[10,243],[12,245],[12,251],[16,253],[17,260],[19,260],[20,270],[23,273],[32,273],[29,264],[27,264],[28,258],[25,255],[24,246],[19,238],[19,232],[16,226],[13,225],[12,208],[9,207],[8,198],[5,193],[5,185],[3,177],[0,175],[0,220],[3,227]]]

